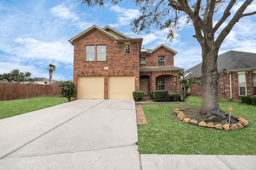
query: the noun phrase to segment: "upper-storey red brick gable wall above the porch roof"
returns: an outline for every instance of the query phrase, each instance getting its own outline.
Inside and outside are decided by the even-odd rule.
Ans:
[[[144,57],[143,53],[141,56]],[[158,56],[165,56],[165,66],[174,66],[174,54],[170,51],[167,51],[163,47],[154,51],[152,55],[147,55],[146,64],[140,64],[140,66],[158,66]]]

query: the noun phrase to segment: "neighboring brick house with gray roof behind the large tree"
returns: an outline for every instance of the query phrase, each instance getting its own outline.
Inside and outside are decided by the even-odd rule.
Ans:
[[[241,96],[256,95],[256,53],[228,51],[218,56],[218,72],[226,68],[226,74],[219,80],[219,97],[241,100]],[[188,69],[192,76],[201,80],[202,63]],[[188,72],[185,71],[185,74]],[[189,78],[189,76],[185,76]],[[190,93],[202,96],[202,86],[190,87]]]

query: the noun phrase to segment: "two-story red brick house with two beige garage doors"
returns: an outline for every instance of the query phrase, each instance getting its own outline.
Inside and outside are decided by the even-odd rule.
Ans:
[[[142,38],[96,25],[76,35],[74,78],[78,99],[132,99],[133,91],[168,90],[180,94],[176,82],[182,68],[174,67],[176,51],[165,45],[141,49]]]

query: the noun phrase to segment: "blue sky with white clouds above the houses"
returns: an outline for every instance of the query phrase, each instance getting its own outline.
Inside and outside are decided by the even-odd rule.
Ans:
[[[146,49],[164,44],[178,52],[174,66],[185,70],[202,62],[201,48],[192,37],[194,29],[190,25],[181,27],[173,42],[166,39],[168,30],[152,28],[150,34],[132,33],[130,22],[140,16],[140,11],[128,2],[89,8],[76,0],[0,0],[0,74],[19,69],[31,72],[32,78],[49,78],[46,68],[51,63],[56,66],[52,79],[73,80],[74,49],[68,40],[92,25],[109,25],[130,38],[143,38],[142,47]],[[238,0],[232,14],[240,5]],[[224,7],[215,14],[214,23]],[[253,2],[246,12],[255,9]],[[255,27],[256,15],[242,18],[222,43],[219,55],[230,50],[256,53]]]

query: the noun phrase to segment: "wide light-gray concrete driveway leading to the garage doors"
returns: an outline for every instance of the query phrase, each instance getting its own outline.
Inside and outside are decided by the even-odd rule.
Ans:
[[[134,100],[75,100],[0,120],[0,169],[140,169]]]

